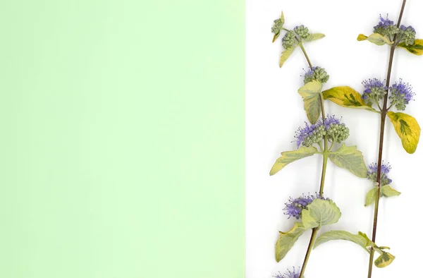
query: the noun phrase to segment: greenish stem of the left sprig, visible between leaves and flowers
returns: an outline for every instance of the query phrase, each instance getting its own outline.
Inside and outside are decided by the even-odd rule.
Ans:
[[[309,64],[310,69],[313,68],[312,62],[310,61],[309,56],[307,55],[307,52],[305,52],[305,48],[304,48],[304,46],[302,45],[301,42],[300,42],[300,48],[302,50],[302,53],[305,56],[305,59],[307,59],[307,63]],[[326,119],[325,112],[324,112],[323,95],[321,93],[319,95],[320,95],[321,117],[323,119]],[[320,145],[320,148],[321,148],[320,143],[319,143],[319,145]],[[326,166],[327,166],[328,157],[329,157],[328,138],[327,138],[326,135],[324,135],[324,148],[322,150],[322,155],[323,155],[323,166],[321,167],[321,179],[320,179],[320,189],[319,189],[319,195],[320,196],[323,195],[324,180],[325,180],[325,177],[326,177]],[[316,236],[317,236],[317,231],[319,231],[319,227],[314,228],[313,231],[312,231],[312,236],[310,238],[309,246],[307,248],[307,253],[305,253],[305,258],[304,258],[304,262],[302,263],[299,278],[304,277],[305,268],[307,267],[307,262],[309,260],[310,254],[312,253],[314,241],[316,240]]]

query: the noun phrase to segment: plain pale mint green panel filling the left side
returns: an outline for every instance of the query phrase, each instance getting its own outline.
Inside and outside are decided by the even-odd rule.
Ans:
[[[0,31],[0,277],[243,277],[243,1],[9,0]]]

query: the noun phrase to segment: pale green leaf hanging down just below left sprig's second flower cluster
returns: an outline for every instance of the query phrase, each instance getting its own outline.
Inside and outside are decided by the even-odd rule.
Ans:
[[[321,112],[320,92],[323,85],[318,80],[312,80],[298,89],[304,101],[304,109],[310,123],[314,124],[319,120]]]

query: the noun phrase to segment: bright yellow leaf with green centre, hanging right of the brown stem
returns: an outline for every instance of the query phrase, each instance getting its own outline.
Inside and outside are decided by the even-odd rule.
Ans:
[[[396,133],[401,138],[404,150],[412,154],[417,149],[420,138],[420,126],[416,119],[405,113],[388,112],[388,117],[395,128]]]

